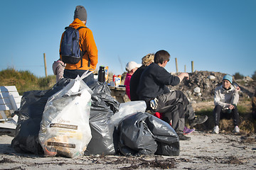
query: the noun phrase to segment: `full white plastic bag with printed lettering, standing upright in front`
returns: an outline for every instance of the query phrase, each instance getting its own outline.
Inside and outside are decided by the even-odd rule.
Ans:
[[[82,81],[70,81],[48,98],[43,111],[39,141],[46,155],[77,157],[85,152],[92,135],[89,125],[91,89]]]

